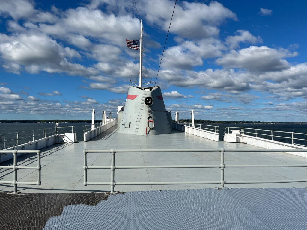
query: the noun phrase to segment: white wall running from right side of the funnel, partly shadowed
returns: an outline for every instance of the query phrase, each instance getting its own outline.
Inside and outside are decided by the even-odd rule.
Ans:
[[[209,140],[219,141],[219,133],[218,132],[211,132],[204,129],[187,126],[184,124],[178,124],[175,122],[172,122],[172,128],[177,129],[182,132],[187,132],[190,134],[193,134],[195,136],[200,136]]]

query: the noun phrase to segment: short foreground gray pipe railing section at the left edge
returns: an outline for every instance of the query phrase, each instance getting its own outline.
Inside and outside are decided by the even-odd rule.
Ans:
[[[13,165],[0,165],[0,168],[13,169],[13,181],[2,181],[0,184],[12,184],[14,187],[14,193],[17,193],[17,184],[21,185],[41,185],[41,151],[40,150],[1,150],[2,153],[13,153],[14,163]],[[35,166],[20,166],[17,165],[17,153],[36,153],[37,154],[37,167]],[[17,169],[36,169],[37,170],[37,182],[21,182],[17,181]]]

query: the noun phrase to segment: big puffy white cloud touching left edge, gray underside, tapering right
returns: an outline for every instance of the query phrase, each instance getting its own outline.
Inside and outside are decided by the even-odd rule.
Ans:
[[[93,75],[98,70],[69,63],[67,58],[79,57],[80,54],[71,48],[64,48],[56,40],[40,33],[18,34],[0,40],[0,54],[4,60],[2,67],[7,71],[20,73],[21,67],[29,73],[66,72],[69,75]]]

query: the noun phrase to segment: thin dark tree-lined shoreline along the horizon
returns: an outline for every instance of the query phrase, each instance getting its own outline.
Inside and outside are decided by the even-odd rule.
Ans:
[[[173,120],[175,121],[175,120]],[[191,120],[180,119],[180,122],[191,123]],[[101,120],[95,120],[99,123]],[[209,121],[194,120],[196,124],[307,124],[307,122],[283,121]],[[91,123],[91,120],[0,120],[0,123]]]

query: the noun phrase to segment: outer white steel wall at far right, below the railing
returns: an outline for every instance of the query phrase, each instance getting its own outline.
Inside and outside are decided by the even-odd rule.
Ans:
[[[235,133],[225,133],[224,141],[227,142],[239,142],[250,144],[253,146],[258,146],[266,149],[307,149],[303,146],[298,146],[295,144],[287,144],[284,142],[276,141],[276,140],[269,140],[261,137],[249,136],[245,134],[235,134]],[[289,154],[302,156],[307,158],[307,152],[287,152]]]

